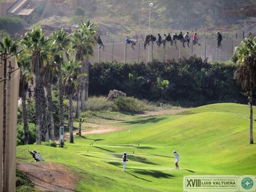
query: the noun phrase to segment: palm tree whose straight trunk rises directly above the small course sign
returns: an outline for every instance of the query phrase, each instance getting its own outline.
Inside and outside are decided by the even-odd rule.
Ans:
[[[62,65],[64,63],[63,55],[65,54],[69,59],[68,48],[70,45],[69,35],[64,30],[54,31],[51,36],[53,41],[54,50],[54,61],[58,67],[58,83],[59,83],[59,124],[64,127],[64,109],[63,109],[63,94],[64,87],[62,84]]]

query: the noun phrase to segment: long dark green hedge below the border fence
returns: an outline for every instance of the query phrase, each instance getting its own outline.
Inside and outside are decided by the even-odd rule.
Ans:
[[[234,80],[236,69],[231,62],[208,63],[198,57],[148,64],[101,62],[90,66],[89,93],[107,95],[109,90],[116,89],[127,96],[183,106],[246,102],[241,87]]]

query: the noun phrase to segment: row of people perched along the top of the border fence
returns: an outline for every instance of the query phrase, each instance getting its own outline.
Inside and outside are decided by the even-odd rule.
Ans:
[[[221,48],[221,41],[222,41],[222,35],[220,32],[217,32],[217,35],[218,35],[218,38],[217,38],[217,41],[218,41],[218,47],[217,48]],[[185,35],[183,35],[182,31],[181,33],[179,33],[179,35],[177,35],[177,33],[174,33],[173,34],[173,38],[171,37],[171,34],[168,33],[168,35],[164,34],[164,37],[162,38],[162,36],[160,35],[160,33],[158,33],[158,37],[156,38],[156,36],[154,35],[147,35],[145,37],[145,40],[144,40],[144,49],[146,49],[146,46],[150,45],[150,42],[151,44],[154,44],[154,42],[157,44],[158,47],[161,47],[161,44],[163,44],[163,48],[165,48],[166,46],[166,43],[171,43],[171,46],[175,46],[175,49],[177,49],[177,41],[181,41],[181,44],[184,48],[186,48],[186,45],[187,44],[187,47],[190,48],[190,35],[189,35],[189,31],[187,31],[187,33]],[[133,39],[130,39],[128,36],[127,38],[125,39],[125,42],[126,44],[130,44],[132,49],[134,49],[134,46],[136,45],[136,43],[138,42],[138,39],[137,40],[133,40]],[[105,48],[103,42],[101,41],[101,38],[100,36],[98,36],[98,39],[97,39],[97,43],[99,45],[99,49],[103,50]],[[197,37],[197,33],[194,33],[192,35],[192,43],[193,45],[198,45],[200,46],[201,44],[198,42],[198,37]]]

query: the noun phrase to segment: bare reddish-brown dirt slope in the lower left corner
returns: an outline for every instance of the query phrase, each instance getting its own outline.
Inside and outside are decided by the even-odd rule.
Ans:
[[[64,166],[48,163],[17,164],[17,169],[25,172],[38,190],[74,192],[77,175]]]

